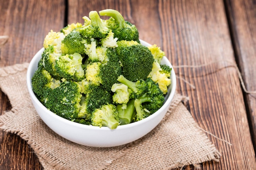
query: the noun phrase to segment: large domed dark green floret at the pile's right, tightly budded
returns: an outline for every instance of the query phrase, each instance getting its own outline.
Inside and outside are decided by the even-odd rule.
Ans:
[[[147,78],[154,58],[150,50],[136,41],[118,41],[115,48],[123,68],[123,75],[130,81]]]

